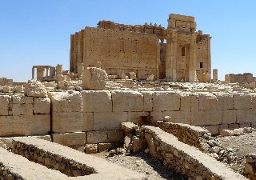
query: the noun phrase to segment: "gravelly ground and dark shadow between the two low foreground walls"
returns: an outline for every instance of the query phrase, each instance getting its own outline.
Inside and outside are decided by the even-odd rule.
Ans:
[[[101,158],[106,158],[106,160],[118,164],[119,166],[124,166],[130,170],[134,170],[146,175],[149,180],[185,180],[186,177],[174,173],[167,169],[166,166],[162,165],[162,162],[155,158],[150,158],[150,155],[144,153],[138,154],[120,154],[114,155],[112,157],[106,157],[107,153],[94,154]]]

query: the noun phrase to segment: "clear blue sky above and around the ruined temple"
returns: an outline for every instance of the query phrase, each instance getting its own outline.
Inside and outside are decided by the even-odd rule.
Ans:
[[[169,14],[195,17],[212,36],[212,68],[256,76],[256,1],[231,0],[0,0],[0,77],[26,81],[34,65],[69,69],[70,34],[99,20],[167,25]]]

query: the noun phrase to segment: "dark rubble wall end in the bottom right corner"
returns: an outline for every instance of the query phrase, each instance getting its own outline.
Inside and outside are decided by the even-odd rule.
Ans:
[[[256,180],[256,154],[246,155],[244,174],[250,180]]]

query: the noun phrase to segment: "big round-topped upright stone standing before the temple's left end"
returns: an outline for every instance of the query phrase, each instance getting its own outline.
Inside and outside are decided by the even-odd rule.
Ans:
[[[97,67],[87,67],[83,72],[83,90],[104,90],[108,76],[105,70]]]

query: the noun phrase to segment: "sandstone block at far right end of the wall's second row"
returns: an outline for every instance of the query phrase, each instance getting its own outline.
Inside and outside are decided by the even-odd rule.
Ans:
[[[256,110],[237,110],[237,122],[255,122]]]

